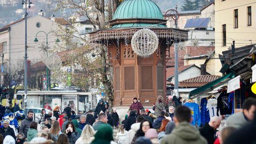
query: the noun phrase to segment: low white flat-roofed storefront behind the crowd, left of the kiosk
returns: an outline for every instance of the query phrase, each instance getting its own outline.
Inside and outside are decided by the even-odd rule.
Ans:
[[[76,114],[95,108],[97,105],[96,95],[92,92],[77,91],[18,91],[17,96],[22,96],[22,108],[46,108],[53,110],[59,106],[61,111],[70,105]]]

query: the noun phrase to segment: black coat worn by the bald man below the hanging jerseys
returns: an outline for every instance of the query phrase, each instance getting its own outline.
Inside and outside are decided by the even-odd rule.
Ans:
[[[208,123],[205,123],[201,128],[199,128],[200,134],[207,140],[208,144],[213,144],[214,139],[214,129],[210,127]]]

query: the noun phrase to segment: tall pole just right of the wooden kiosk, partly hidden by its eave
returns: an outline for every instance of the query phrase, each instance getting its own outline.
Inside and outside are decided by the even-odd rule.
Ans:
[[[178,9],[178,6],[175,7],[176,11]],[[175,13],[175,17],[177,18],[178,15]],[[175,20],[175,29],[178,28],[177,20]],[[178,76],[178,47],[177,47],[177,39],[174,41],[174,54],[175,54],[175,70],[174,70],[174,95],[179,97],[179,76]]]

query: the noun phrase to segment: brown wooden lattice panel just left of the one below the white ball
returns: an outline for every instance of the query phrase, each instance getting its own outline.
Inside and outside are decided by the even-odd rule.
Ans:
[[[124,67],[125,90],[135,90],[135,66]]]

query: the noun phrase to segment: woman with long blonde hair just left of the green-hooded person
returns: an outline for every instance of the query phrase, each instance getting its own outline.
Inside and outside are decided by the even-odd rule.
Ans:
[[[93,130],[90,124],[86,124],[83,128],[82,134],[80,137],[75,141],[75,144],[91,144],[94,140],[95,131]]]

